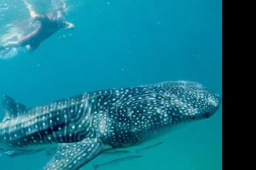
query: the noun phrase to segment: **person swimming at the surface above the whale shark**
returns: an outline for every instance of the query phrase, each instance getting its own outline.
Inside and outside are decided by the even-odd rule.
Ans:
[[[60,28],[66,28],[71,30],[75,28],[73,24],[65,21],[64,9],[58,9],[54,12],[49,12],[48,14],[35,14],[31,12],[31,17],[34,21],[38,21],[39,25],[32,33],[25,35],[18,41],[9,41],[0,46],[0,56],[7,54],[12,47],[25,47],[29,51],[34,51],[39,47],[42,41],[48,39],[50,36],[54,35]]]

